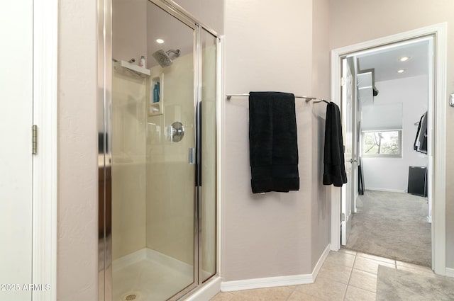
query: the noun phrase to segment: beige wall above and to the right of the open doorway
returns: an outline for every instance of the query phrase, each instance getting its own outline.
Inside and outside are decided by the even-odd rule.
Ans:
[[[436,23],[448,24],[446,92],[454,92],[454,2],[450,0],[330,0],[331,49],[402,33]],[[446,266],[454,268],[454,108],[446,100]]]

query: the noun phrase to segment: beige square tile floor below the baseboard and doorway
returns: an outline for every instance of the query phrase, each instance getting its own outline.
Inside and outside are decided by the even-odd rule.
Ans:
[[[328,254],[313,284],[218,293],[211,301],[375,301],[380,264],[434,275],[424,266],[341,249]]]

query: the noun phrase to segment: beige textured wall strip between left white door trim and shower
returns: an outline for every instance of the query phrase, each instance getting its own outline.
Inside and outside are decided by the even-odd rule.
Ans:
[[[97,300],[96,1],[59,4],[57,300]]]

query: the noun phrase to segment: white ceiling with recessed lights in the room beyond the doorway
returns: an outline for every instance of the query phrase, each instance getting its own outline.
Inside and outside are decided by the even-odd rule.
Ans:
[[[428,40],[405,42],[355,55],[358,73],[375,69],[375,82],[428,74]],[[399,62],[401,57],[410,57]],[[405,69],[403,73],[397,70]]]

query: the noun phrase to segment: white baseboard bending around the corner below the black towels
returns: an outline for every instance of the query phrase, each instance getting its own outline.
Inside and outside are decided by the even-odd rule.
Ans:
[[[232,292],[235,290],[251,290],[253,288],[274,288],[276,286],[288,286],[288,285],[301,285],[301,284],[310,284],[314,283],[317,274],[320,271],[323,262],[328,256],[331,246],[328,244],[325,251],[320,256],[319,261],[317,261],[314,270],[310,274],[300,274],[292,276],[277,276],[277,277],[267,277],[267,278],[255,278],[255,279],[245,279],[245,280],[235,280],[235,281],[223,281],[221,283],[222,292]]]

